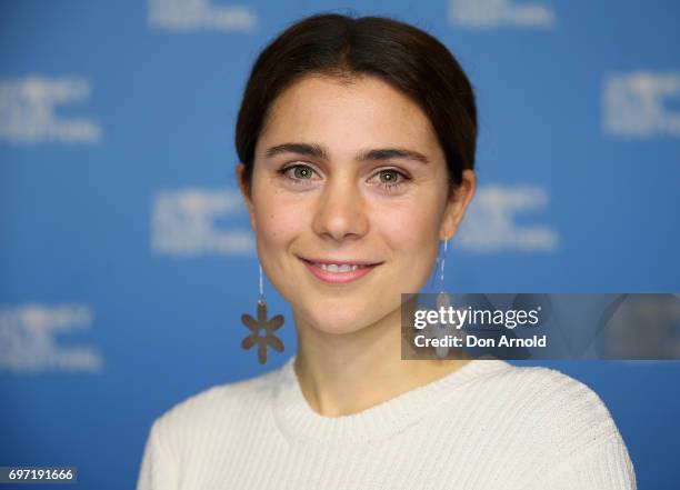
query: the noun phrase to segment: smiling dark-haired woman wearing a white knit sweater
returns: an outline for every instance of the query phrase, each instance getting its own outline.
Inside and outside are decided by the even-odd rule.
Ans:
[[[260,54],[238,179],[299,350],[157,420],[139,490],[636,487],[582,383],[500,360],[401,360],[400,294],[426,284],[463,218],[476,137],[462,69],[406,23],[316,16]]]

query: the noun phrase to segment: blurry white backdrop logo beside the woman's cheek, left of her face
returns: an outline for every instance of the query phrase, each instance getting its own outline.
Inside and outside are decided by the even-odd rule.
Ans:
[[[244,213],[237,190],[161,191],[153,199],[151,248],[170,256],[252,256],[250,227],[218,227],[217,221]]]

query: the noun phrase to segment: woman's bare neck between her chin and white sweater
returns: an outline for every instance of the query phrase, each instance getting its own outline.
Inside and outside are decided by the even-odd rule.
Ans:
[[[326,417],[357,413],[461,368],[466,360],[402,360],[401,311],[351,333],[327,333],[293,316],[294,370],[309,406]]]

